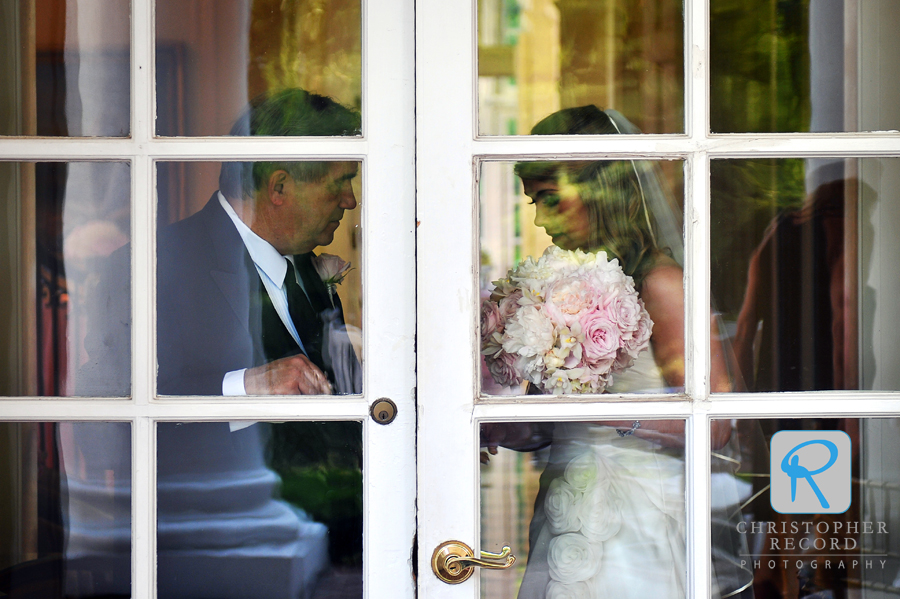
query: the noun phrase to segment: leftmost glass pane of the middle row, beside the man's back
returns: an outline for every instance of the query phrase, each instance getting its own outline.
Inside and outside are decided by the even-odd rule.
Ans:
[[[128,395],[130,166],[0,162],[0,189],[0,395]]]

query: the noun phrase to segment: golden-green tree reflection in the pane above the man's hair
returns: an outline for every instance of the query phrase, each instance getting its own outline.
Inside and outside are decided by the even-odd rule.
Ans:
[[[254,0],[250,95],[300,87],[361,104],[359,0]]]

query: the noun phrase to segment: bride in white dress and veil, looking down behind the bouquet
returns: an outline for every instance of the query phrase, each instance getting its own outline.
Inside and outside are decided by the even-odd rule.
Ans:
[[[621,114],[595,106],[556,112],[532,134],[638,132]],[[516,165],[535,204],[535,224],[566,250],[617,258],[653,320],[651,349],[616,375],[611,393],[684,388],[681,231],[651,163],[523,162]],[[722,355],[713,348],[713,355]],[[712,391],[728,391],[714,360]],[[713,421],[713,447],[727,421]],[[525,433],[528,436],[530,433]],[[516,447],[516,427],[496,426],[488,446]],[[553,427],[541,475],[519,599],[685,596],[684,421],[564,422]],[[521,449],[521,447],[519,447]]]

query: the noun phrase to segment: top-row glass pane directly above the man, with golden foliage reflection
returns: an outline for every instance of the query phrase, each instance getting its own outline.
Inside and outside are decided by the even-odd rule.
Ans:
[[[359,0],[158,0],[156,133],[246,135],[251,98],[302,89],[360,111]],[[339,125],[335,128],[335,125]],[[254,135],[358,135],[359,122]]]

